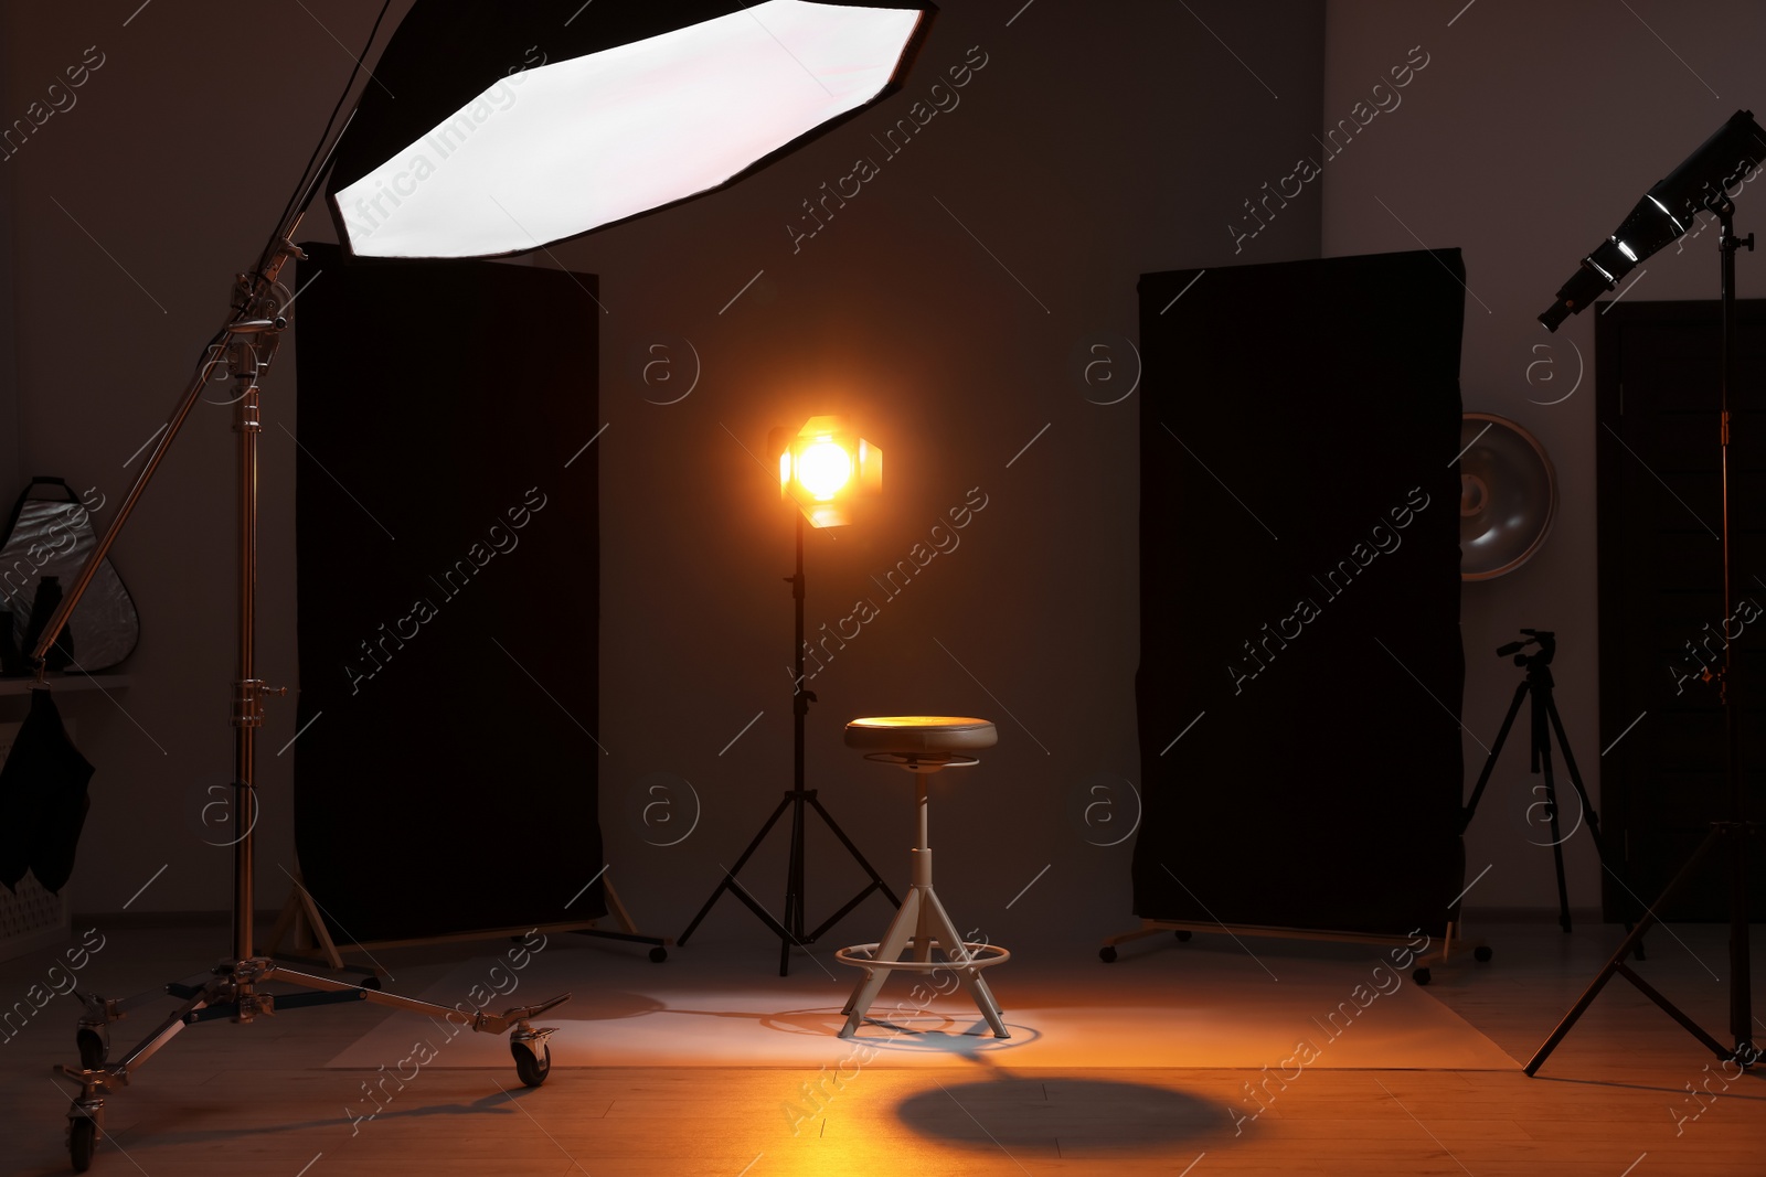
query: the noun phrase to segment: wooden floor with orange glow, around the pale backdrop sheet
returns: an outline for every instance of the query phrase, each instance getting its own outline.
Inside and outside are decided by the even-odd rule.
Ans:
[[[1570,937],[1536,923],[1478,932],[1496,960],[1436,969],[1429,992],[1517,1061],[1533,1053],[1618,939],[1595,923]],[[1766,928],[1755,928],[1755,946],[1762,939]],[[215,942],[212,930],[111,932],[81,985],[108,995],[150,988],[161,974],[192,972]],[[1166,969],[1181,985],[1181,953],[1190,948],[1132,946],[1111,967]],[[1657,933],[1649,949],[1651,981],[1727,1038],[1725,986],[1713,979],[1727,974],[1724,930],[1678,926]],[[387,963],[403,992],[420,992],[473,951],[406,949]],[[25,995],[53,962],[37,953],[0,965],[0,997]],[[1766,974],[1759,948],[1754,971]],[[1757,983],[1766,1016],[1762,992]],[[809,1083],[818,1076],[800,1069],[558,1066],[530,1091],[512,1069],[440,1064],[419,1069],[403,1089],[387,1083],[392,1094],[376,1105],[362,1085],[378,1073],[325,1064],[381,1016],[397,1015],[351,1004],[185,1031],[109,1099],[111,1136],[94,1172],[1766,1173],[1766,1068],[1725,1076],[1623,981],[1533,1080],[1519,1062],[1513,1071],[1314,1068],[1282,1083],[1254,1071],[1113,1069],[1107,1059],[1061,1073],[984,1059],[973,1073],[858,1068],[839,1087],[825,1083],[814,1106]],[[67,1172],[67,1096],[49,1068],[72,1061],[76,1018],[72,999],[57,997],[0,1043],[7,1177]],[[124,1039],[134,1036],[118,1032]],[[1250,1082],[1261,1083],[1261,1101],[1247,1094]],[[355,1119],[376,1106],[373,1119]]]

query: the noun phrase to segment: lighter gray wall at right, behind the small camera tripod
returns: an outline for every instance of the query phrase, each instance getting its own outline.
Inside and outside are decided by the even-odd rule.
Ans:
[[[1759,108],[1766,7],[1480,0],[1460,12],[1462,4],[1328,5],[1328,124],[1367,97],[1409,46],[1422,44],[1430,64],[1404,90],[1404,104],[1376,116],[1330,164],[1324,252],[1415,249],[1418,238],[1464,251],[1473,291],[1460,362],[1466,409],[1508,416],[1538,438],[1559,494],[1556,528],[1538,556],[1506,577],[1466,586],[1464,723],[1494,743],[1521,676],[1496,648],[1519,626],[1558,630],[1558,706],[1598,810],[1600,766],[1626,746],[1619,741],[1602,757],[1623,723],[1598,731],[1595,316],[1577,316],[1556,335],[1535,316],[1651,184],[1738,108]],[[1692,12],[1697,18],[1687,19]],[[1738,229],[1754,228],[1759,212],[1743,196]],[[1625,298],[1715,298],[1715,238],[1713,228],[1648,258]],[[1741,296],[1766,295],[1757,254],[1740,254],[1738,274]],[[1369,311],[1377,330],[1377,309]],[[1468,836],[1469,872],[1494,863],[1468,902],[1554,907],[1551,851],[1533,843],[1549,836],[1526,826],[1538,778],[1526,773],[1524,725],[1513,739],[1521,745],[1505,750]],[[1473,739],[1464,746],[1469,787],[1485,753]],[[1566,851],[1572,903],[1598,903],[1589,840],[1579,835]]]

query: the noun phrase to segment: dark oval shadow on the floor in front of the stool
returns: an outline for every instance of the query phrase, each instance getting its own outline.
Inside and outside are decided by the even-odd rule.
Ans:
[[[1155,1152],[1217,1136],[1231,1122],[1220,1103],[1187,1091],[1060,1075],[934,1082],[902,1099],[895,1115],[952,1147],[1010,1152],[1014,1142],[1033,1147],[1058,1138],[1061,1154],[1077,1158]]]

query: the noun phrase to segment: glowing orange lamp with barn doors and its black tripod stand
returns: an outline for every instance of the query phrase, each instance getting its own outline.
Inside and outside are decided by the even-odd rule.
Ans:
[[[818,429],[821,432],[818,432]],[[832,434],[834,429],[835,429],[835,418],[818,416],[812,418],[809,425],[804,427],[798,438],[800,439],[807,438],[809,445],[812,446],[818,441],[826,443],[828,438],[834,436]],[[869,446],[869,452],[865,452],[865,446],[867,443],[864,441],[858,443],[858,450],[864,455],[862,462],[865,459],[872,459],[872,455],[874,455],[872,461],[881,462],[881,454],[878,454],[874,446]],[[795,446],[795,448],[800,450],[807,446]],[[791,450],[782,450],[781,454],[782,459],[791,457]],[[860,476],[864,476],[864,473],[860,473]],[[798,491],[793,487],[793,482],[795,482],[793,469],[788,468],[788,462],[782,462],[781,489],[791,494],[798,494]],[[871,489],[872,491],[876,489],[874,482]],[[804,641],[804,521],[805,517],[821,521],[816,522],[816,526],[839,526],[841,522],[846,522],[846,514],[837,505],[834,505],[834,494],[835,492],[830,491],[826,496],[816,496],[816,494],[800,496],[807,501],[804,501],[804,510],[796,514],[796,572],[784,577],[786,584],[791,586],[791,602],[796,616],[796,644],[793,646],[795,678],[791,690],[791,741],[793,741],[791,787],[786,789],[784,796],[779,799],[779,805],[774,808],[772,815],[765,821],[765,824],[761,824],[759,833],[756,833],[754,838],[749,842],[747,849],[742,851],[742,856],[736,859],[736,865],[724,872],[722,881],[712,891],[712,896],[705,900],[705,905],[699,909],[699,914],[692,918],[692,923],[687,925],[687,930],[682,932],[680,937],[676,937],[675,941],[676,944],[685,946],[687,937],[694,933],[699,923],[710,914],[717,900],[722,898],[722,895],[728,891],[735,895],[738,900],[742,900],[742,903],[751,912],[754,912],[754,918],[759,919],[763,925],[766,925],[766,928],[770,928],[772,933],[779,937],[779,976],[789,976],[791,972],[793,944],[814,944],[823,932],[832,928],[849,911],[858,907],[872,891],[883,891],[883,896],[888,898],[890,903],[901,907],[901,900],[895,898],[895,893],[890,891],[887,882],[883,882],[883,875],[876,872],[876,868],[865,859],[865,856],[858,851],[858,847],[853,845],[853,840],[846,836],[846,831],[841,829],[841,824],[834,821],[834,815],[828,813],[828,810],[821,805],[821,799],[816,796],[816,791],[804,787],[804,727],[805,720],[809,718],[809,704],[816,702],[816,692],[804,688],[804,649],[807,648],[807,642]],[[841,845],[846,847],[846,852],[853,856],[853,861],[857,861],[864,868],[864,872],[871,877],[871,882],[862,891],[858,891],[858,895],[849,898],[839,911],[835,911],[832,916],[823,919],[819,925],[816,925],[816,928],[809,932],[804,930],[804,891],[805,891],[804,806],[805,805],[816,810],[823,824],[830,831],[834,831],[834,836],[841,840]],[[781,921],[775,919],[772,912],[768,912],[765,907],[761,907],[752,895],[749,895],[749,889],[742,886],[736,875],[742,873],[742,868],[754,856],[754,851],[758,851],[759,845],[766,840],[766,835],[772,833],[772,828],[779,824],[779,819],[784,817],[786,810],[791,810],[791,858],[789,865],[786,866],[784,919]]]

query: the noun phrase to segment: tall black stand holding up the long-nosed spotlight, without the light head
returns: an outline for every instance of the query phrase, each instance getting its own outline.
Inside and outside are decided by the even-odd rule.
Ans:
[[[1729,445],[1731,445],[1731,415],[1729,415],[1729,395],[1736,386],[1736,251],[1741,247],[1754,249],[1754,235],[1748,233],[1745,238],[1738,238],[1734,233],[1734,212],[1736,205],[1729,196],[1718,189],[1718,192],[1706,201],[1706,208],[1717,217],[1722,226],[1722,236],[1717,244],[1718,261],[1720,261],[1720,302],[1722,302],[1722,367],[1718,378],[1718,413],[1720,413],[1720,454],[1722,454],[1722,496],[1724,496],[1724,616],[1734,616],[1734,563],[1731,552],[1731,499],[1729,499]],[[1692,858],[1685,861],[1679,873],[1667,884],[1662,896],[1649,905],[1648,911],[1637,919],[1637,926],[1632,933],[1625,937],[1618,951],[1607,960],[1600,974],[1595,976],[1593,983],[1577,999],[1570,1013],[1563,1016],[1558,1027],[1545,1039],[1545,1045],[1538,1048],[1538,1053],[1526,1066],[1526,1073],[1531,1076],[1538,1073],[1551,1052],[1558,1048],[1558,1043],[1575,1027],[1582,1013],[1595,1002],[1600,990],[1605,988],[1607,981],[1614,974],[1623,976],[1630,981],[1637,992],[1653,1001],[1667,1016],[1674,1018],[1683,1031],[1697,1038],[1704,1046],[1715,1053],[1724,1062],[1736,1062],[1741,1068],[1754,1066],[1761,1061],[1761,1052],[1754,1045],[1754,1009],[1750,993],[1750,960],[1748,960],[1748,838],[1759,831],[1759,822],[1752,822],[1747,817],[1747,794],[1743,792],[1741,782],[1741,720],[1740,704],[1736,695],[1736,642],[1724,642],[1724,665],[1718,672],[1718,690],[1722,692],[1724,702],[1724,755],[1725,755],[1725,783],[1729,785],[1729,815],[1711,822],[1711,833],[1704,836],[1699,849],[1692,852]],[[1655,925],[1660,916],[1657,914],[1679,893],[1681,886],[1694,875],[1694,872],[1704,863],[1704,859],[1717,851],[1724,849],[1729,865],[1729,1032],[1732,1046],[1724,1046],[1711,1034],[1708,1034],[1697,1022],[1687,1016],[1674,1002],[1658,993],[1648,981],[1637,976],[1626,963],[1625,956],[1632,948],[1642,941],[1644,932]]]

